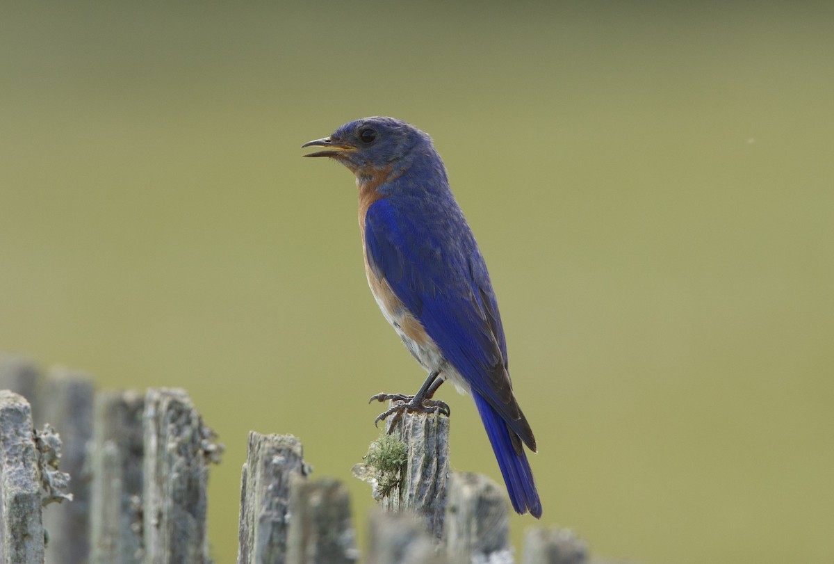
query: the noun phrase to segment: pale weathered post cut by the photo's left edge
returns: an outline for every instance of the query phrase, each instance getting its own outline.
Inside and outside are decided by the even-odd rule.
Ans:
[[[0,390],[0,562],[43,564],[41,476],[32,410],[23,396]]]

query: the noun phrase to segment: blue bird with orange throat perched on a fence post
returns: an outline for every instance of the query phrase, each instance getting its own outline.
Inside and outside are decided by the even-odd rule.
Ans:
[[[302,148],[323,150],[356,176],[365,275],[385,320],[429,373],[415,395],[394,400],[377,422],[402,410],[440,410],[445,380],[471,395],[516,512],[540,518],[525,446],[530,424],[513,393],[504,328],[475,235],[452,194],[432,139],[396,118],[361,118]]]

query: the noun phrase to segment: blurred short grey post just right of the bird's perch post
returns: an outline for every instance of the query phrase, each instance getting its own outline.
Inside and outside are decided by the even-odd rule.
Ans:
[[[444,538],[450,560],[513,564],[504,488],[481,474],[453,472]]]

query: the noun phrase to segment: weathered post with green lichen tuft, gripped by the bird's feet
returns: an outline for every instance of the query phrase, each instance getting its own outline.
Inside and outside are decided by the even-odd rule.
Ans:
[[[387,421],[385,432],[371,444],[366,463],[354,466],[354,476],[370,483],[379,506],[423,516],[440,539],[450,474],[449,417],[404,413]]]

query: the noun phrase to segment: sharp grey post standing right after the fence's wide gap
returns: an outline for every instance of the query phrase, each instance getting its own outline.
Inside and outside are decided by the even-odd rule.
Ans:
[[[301,441],[249,431],[240,484],[238,564],[283,564],[287,556],[290,481],[305,477]]]

